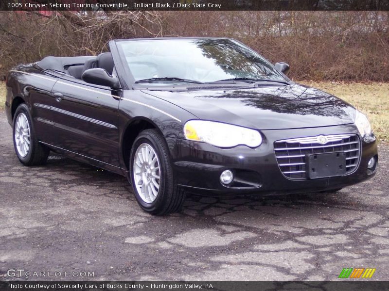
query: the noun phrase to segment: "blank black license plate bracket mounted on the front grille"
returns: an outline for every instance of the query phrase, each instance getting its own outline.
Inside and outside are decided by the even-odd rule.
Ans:
[[[329,178],[346,174],[346,153],[321,153],[308,156],[309,178]]]

